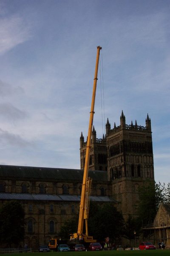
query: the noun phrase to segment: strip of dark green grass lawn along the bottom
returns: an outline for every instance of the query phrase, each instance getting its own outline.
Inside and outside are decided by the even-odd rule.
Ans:
[[[26,255],[25,255],[26,254]],[[170,255],[170,250],[123,250],[123,251],[97,251],[97,252],[51,252],[42,253],[42,256],[160,256],[160,255]],[[3,253],[2,256],[22,256],[23,253]],[[40,253],[24,253],[24,256],[40,256]]]

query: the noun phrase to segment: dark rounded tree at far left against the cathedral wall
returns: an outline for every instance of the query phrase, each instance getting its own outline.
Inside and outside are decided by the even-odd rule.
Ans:
[[[18,245],[24,239],[24,210],[17,201],[9,201],[0,208],[0,242]]]

